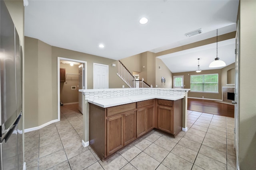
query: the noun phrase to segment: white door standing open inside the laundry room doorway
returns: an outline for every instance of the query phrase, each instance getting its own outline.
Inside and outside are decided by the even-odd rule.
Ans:
[[[79,89],[84,89],[84,64],[78,66]],[[83,94],[79,92],[78,110],[83,113]]]

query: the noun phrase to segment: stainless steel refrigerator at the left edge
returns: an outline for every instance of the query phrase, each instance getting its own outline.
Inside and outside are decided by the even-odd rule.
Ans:
[[[0,0],[0,170],[23,169],[22,50],[3,0]]]

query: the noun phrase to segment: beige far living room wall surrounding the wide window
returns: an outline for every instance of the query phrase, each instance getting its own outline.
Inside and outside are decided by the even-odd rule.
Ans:
[[[199,74],[218,74],[218,81],[219,81],[219,86],[218,86],[218,93],[200,93],[200,92],[188,92],[188,97],[192,98],[204,98],[207,99],[217,99],[217,100],[222,100],[222,84],[221,84],[221,69],[217,70],[202,70],[202,72],[179,72],[179,73],[172,73],[172,76],[184,76],[184,88],[190,88],[190,75],[199,75]]]

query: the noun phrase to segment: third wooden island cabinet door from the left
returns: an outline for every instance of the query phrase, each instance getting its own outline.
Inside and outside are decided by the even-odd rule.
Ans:
[[[146,133],[146,108],[137,110],[137,138]]]

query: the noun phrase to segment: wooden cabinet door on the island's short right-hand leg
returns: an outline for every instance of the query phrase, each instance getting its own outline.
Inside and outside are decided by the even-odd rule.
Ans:
[[[158,129],[173,133],[173,109],[158,106]]]

